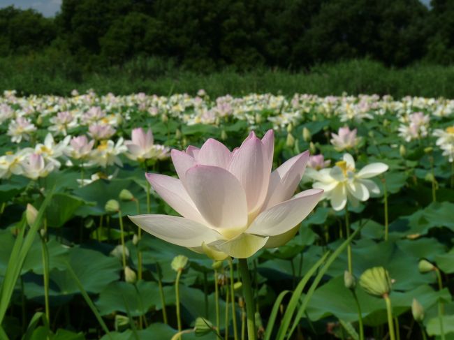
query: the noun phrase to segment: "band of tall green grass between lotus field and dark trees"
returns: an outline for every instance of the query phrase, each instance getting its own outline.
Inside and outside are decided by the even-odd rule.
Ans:
[[[386,68],[369,59],[314,66],[309,71],[291,72],[258,68],[249,72],[223,71],[200,74],[175,66],[172,60],[137,58],[123,66],[87,70],[71,56],[40,54],[0,58],[0,90],[20,94],[67,96],[71,90],[94,89],[100,94],[173,93],[196,94],[205,89],[210,96],[270,92],[291,96],[298,93],[321,96],[348,94],[391,94],[454,98],[454,66],[415,65]]]

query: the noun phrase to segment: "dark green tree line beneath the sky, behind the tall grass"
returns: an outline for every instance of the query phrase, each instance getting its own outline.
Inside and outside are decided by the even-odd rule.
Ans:
[[[454,1],[63,0],[55,17],[0,9],[0,56],[49,54],[85,69],[158,57],[193,71],[288,70],[368,57],[454,61]]]

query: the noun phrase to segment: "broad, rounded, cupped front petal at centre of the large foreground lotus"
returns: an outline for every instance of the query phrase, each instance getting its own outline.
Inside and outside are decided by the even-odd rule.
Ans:
[[[240,182],[227,170],[195,165],[186,172],[186,190],[213,227],[235,229],[247,225],[246,195]]]

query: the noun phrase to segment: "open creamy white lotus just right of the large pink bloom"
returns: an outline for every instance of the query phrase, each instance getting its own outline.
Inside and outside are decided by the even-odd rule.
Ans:
[[[379,187],[369,178],[380,175],[388,170],[385,163],[372,163],[356,172],[355,161],[351,154],[344,154],[342,161],[334,168],[325,168],[318,172],[311,172],[316,180],[313,187],[323,189],[325,198],[330,200],[335,210],[342,210],[347,200],[355,207],[359,201],[365,202],[370,194],[380,193]]]

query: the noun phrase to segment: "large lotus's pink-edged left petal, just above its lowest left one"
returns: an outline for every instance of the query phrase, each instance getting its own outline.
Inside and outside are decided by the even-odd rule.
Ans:
[[[198,212],[196,205],[192,202],[186,189],[180,179],[174,177],[159,175],[159,174],[146,174],[149,184],[161,196],[163,200],[172,207],[175,212],[200,223],[204,223],[202,216]]]

